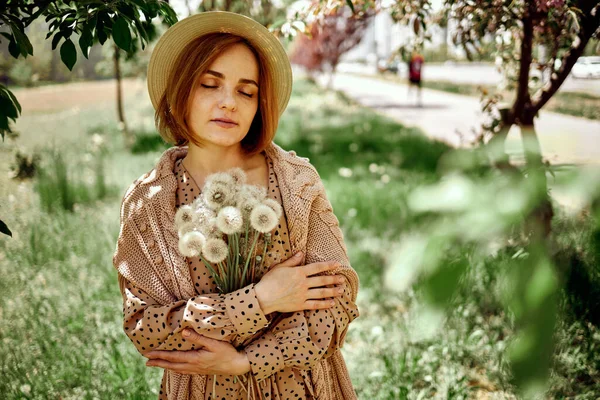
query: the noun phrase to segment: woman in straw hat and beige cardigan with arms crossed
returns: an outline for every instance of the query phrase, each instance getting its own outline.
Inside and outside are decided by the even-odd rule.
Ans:
[[[157,43],[148,89],[176,146],[125,194],[113,263],[125,332],[165,369],[159,398],[356,398],[339,348],[358,317],[358,277],[316,170],[272,142],[291,93],[279,41],[241,15],[194,15]],[[219,294],[199,259],[180,254],[174,216],[208,175],[233,167],[284,213],[270,268]]]

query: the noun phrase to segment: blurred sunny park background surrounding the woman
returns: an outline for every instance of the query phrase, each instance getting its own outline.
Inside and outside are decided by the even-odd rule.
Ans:
[[[600,398],[600,5],[120,0],[0,5],[0,397],[156,398],[112,266],[168,148],[145,73],[206,10],[293,62],[276,142],[319,171],[361,312],[360,399]]]

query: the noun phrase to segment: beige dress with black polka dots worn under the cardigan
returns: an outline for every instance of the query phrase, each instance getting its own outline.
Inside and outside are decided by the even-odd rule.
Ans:
[[[282,204],[273,161],[266,153],[263,155],[269,171],[268,197]],[[173,172],[178,182],[176,207],[192,203],[200,195],[200,189],[183,167],[182,159],[177,160]],[[291,256],[285,211],[271,234],[265,268],[257,274],[256,282],[270,266]],[[232,293],[219,294],[214,279],[199,258],[188,259],[188,265],[196,296],[169,305],[158,304],[134,284],[119,278],[124,300],[124,329],[136,348],[140,352],[195,349],[194,344],[181,337],[185,328],[217,340],[231,341],[236,336],[248,338],[250,343],[245,352],[259,393],[257,398],[314,398],[312,368],[339,349],[345,328],[358,316],[349,285],[330,309],[264,315],[254,283]],[[190,399],[248,398],[241,384],[234,383],[234,376],[213,377],[208,375],[203,380],[199,375],[193,375]],[[159,392],[161,400],[167,400],[165,378],[166,375]],[[198,397],[198,390],[194,390],[199,384],[205,385],[203,398]]]

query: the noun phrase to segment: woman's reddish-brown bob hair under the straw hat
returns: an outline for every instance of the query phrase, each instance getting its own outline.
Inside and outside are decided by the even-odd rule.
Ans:
[[[248,133],[242,139],[242,149],[246,154],[254,155],[271,143],[279,123],[279,110],[267,63],[248,40],[229,33],[210,33],[194,39],[176,60],[154,114],[156,128],[166,142],[177,146],[189,142],[203,146],[186,121],[191,94],[195,92],[200,77],[208,71],[213,61],[238,43],[246,45],[258,62],[258,110]]]

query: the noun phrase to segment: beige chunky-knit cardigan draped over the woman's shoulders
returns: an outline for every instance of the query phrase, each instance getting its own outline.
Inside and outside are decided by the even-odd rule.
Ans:
[[[271,143],[266,152],[273,160],[279,182],[292,253],[302,250],[304,264],[339,261],[342,268],[332,274],[346,277],[355,302],[358,275],[348,261],[338,219],[319,174],[308,159],[296,156],[294,151],[287,152]],[[175,161],[186,154],[187,147],[165,151],[156,167],[129,187],[121,206],[121,228],[113,264],[125,279],[162,305],[195,295],[188,263],[179,253],[174,226],[177,180],[173,170]],[[307,249],[309,239],[315,245]],[[343,332],[340,347],[345,335]],[[187,400],[192,390],[191,376],[169,370],[165,374],[168,398]],[[339,349],[318,362],[311,376],[318,400],[357,398]],[[194,392],[204,390],[203,384],[193,381]]]

